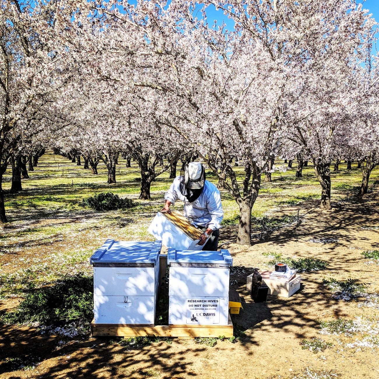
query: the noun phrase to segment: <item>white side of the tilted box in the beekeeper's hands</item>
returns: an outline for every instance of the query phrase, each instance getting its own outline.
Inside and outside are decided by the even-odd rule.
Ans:
[[[172,211],[173,215],[177,215],[184,219],[179,212]],[[187,221],[188,227],[192,227]],[[172,223],[163,213],[158,212],[149,228],[147,229],[155,238],[161,240],[164,246],[177,250],[201,250],[204,245],[198,245],[198,239],[191,238],[184,228],[180,228]],[[199,234],[202,232],[200,231]]]

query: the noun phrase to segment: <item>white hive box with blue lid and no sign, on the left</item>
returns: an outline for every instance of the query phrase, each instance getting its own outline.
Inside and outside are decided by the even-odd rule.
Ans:
[[[161,244],[106,240],[92,255],[95,324],[154,324]]]

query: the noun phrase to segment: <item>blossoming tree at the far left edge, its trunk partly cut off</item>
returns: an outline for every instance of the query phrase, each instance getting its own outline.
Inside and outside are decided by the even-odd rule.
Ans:
[[[58,16],[59,14],[59,16]],[[6,222],[2,175],[18,161],[22,140],[39,132],[38,120],[67,80],[69,63],[61,43],[69,33],[61,19],[70,7],[1,0],[0,8],[0,221]],[[63,63],[64,62],[64,63]]]

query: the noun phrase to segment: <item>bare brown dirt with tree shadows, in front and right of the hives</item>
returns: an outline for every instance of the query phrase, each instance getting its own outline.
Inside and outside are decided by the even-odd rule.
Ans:
[[[333,204],[331,211],[318,210],[317,200],[303,202],[299,224],[267,233],[264,240],[255,239],[251,247],[233,243],[236,227],[222,229],[220,243],[231,241],[223,248],[232,254],[233,265],[247,268],[245,273],[233,277],[231,286],[240,293],[243,304],[240,314],[232,315],[239,334],[235,343],[218,340],[210,347],[194,340],[173,338],[150,346],[125,348],[115,342],[116,338],[41,335],[31,326],[1,325],[0,378],[267,379],[339,375],[346,379],[377,379],[377,345],[365,346],[362,334],[321,335],[318,321],[363,317],[376,323],[379,331],[378,304],[367,306],[364,298],[334,299],[323,285],[323,278],[359,279],[366,283],[368,292],[379,293],[379,265],[362,255],[363,251],[379,249],[378,200],[379,195],[371,193],[362,199]],[[296,211],[296,207],[282,207],[275,214]],[[301,289],[288,299],[268,296],[267,302],[254,303],[246,291],[246,276],[254,267],[267,268],[264,252],[318,258],[329,266],[325,271],[302,273]],[[12,299],[2,301],[0,312],[15,304],[17,301]],[[302,349],[301,341],[313,337],[332,346],[317,353]],[[40,363],[33,370],[11,371],[6,363],[11,351],[12,356],[17,352],[21,357],[38,357]],[[318,376],[305,376],[305,368],[318,372]]]

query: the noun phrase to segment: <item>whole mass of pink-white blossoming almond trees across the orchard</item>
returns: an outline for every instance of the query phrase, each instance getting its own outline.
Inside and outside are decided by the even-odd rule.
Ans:
[[[207,19],[211,5],[230,30]],[[49,147],[95,169],[102,159],[110,183],[117,157],[134,157],[148,199],[155,177],[196,155],[238,204],[249,244],[275,157],[312,161],[322,209],[332,161],[359,161],[367,191],[379,160],[376,31],[354,0],[2,0],[0,185],[11,166],[18,191],[22,165]]]

